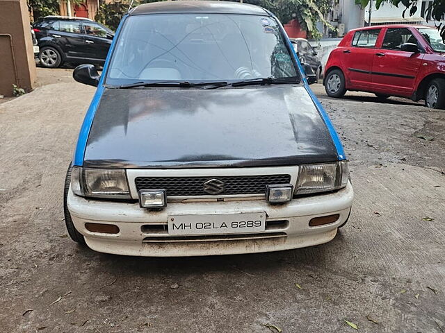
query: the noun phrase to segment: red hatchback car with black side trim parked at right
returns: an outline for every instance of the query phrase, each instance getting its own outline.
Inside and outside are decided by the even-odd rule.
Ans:
[[[327,95],[373,92],[445,108],[445,44],[428,26],[369,26],[349,31],[327,60]]]

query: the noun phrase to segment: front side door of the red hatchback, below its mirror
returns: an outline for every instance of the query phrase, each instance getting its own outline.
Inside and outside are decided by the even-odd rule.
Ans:
[[[380,49],[375,50],[371,87],[375,92],[410,96],[419,74],[423,53],[401,51],[401,44],[420,46],[409,28],[387,28]]]

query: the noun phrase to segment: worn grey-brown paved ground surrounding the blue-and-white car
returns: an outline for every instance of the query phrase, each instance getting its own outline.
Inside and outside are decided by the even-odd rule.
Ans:
[[[315,85],[356,193],[333,241],[120,257],[76,246],[63,223],[65,169],[94,89],[66,70],[39,76],[47,85],[0,105],[1,332],[354,332],[345,319],[359,332],[444,332],[444,112],[370,94],[327,99]]]

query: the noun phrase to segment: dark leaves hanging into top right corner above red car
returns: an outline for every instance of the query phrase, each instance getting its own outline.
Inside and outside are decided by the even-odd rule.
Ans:
[[[383,2],[391,3],[398,7],[400,4],[405,6],[402,16],[405,17],[406,12],[410,16],[414,15],[419,8],[417,8],[417,0],[376,0],[375,8],[378,9]],[[362,5],[362,8],[368,6],[369,0],[355,0],[357,5]],[[426,17],[431,17],[435,21],[435,26],[439,29],[442,38],[445,40],[445,24],[441,22],[445,15],[445,0],[433,0],[432,3],[425,10]],[[428,22],[428,19],[427,19]]]

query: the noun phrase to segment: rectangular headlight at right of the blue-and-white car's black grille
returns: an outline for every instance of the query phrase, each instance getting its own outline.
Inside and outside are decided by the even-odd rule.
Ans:
[[[312,194],[341,189],[348,184],[348,162],[304,164],[298,171],[295,194]]]

